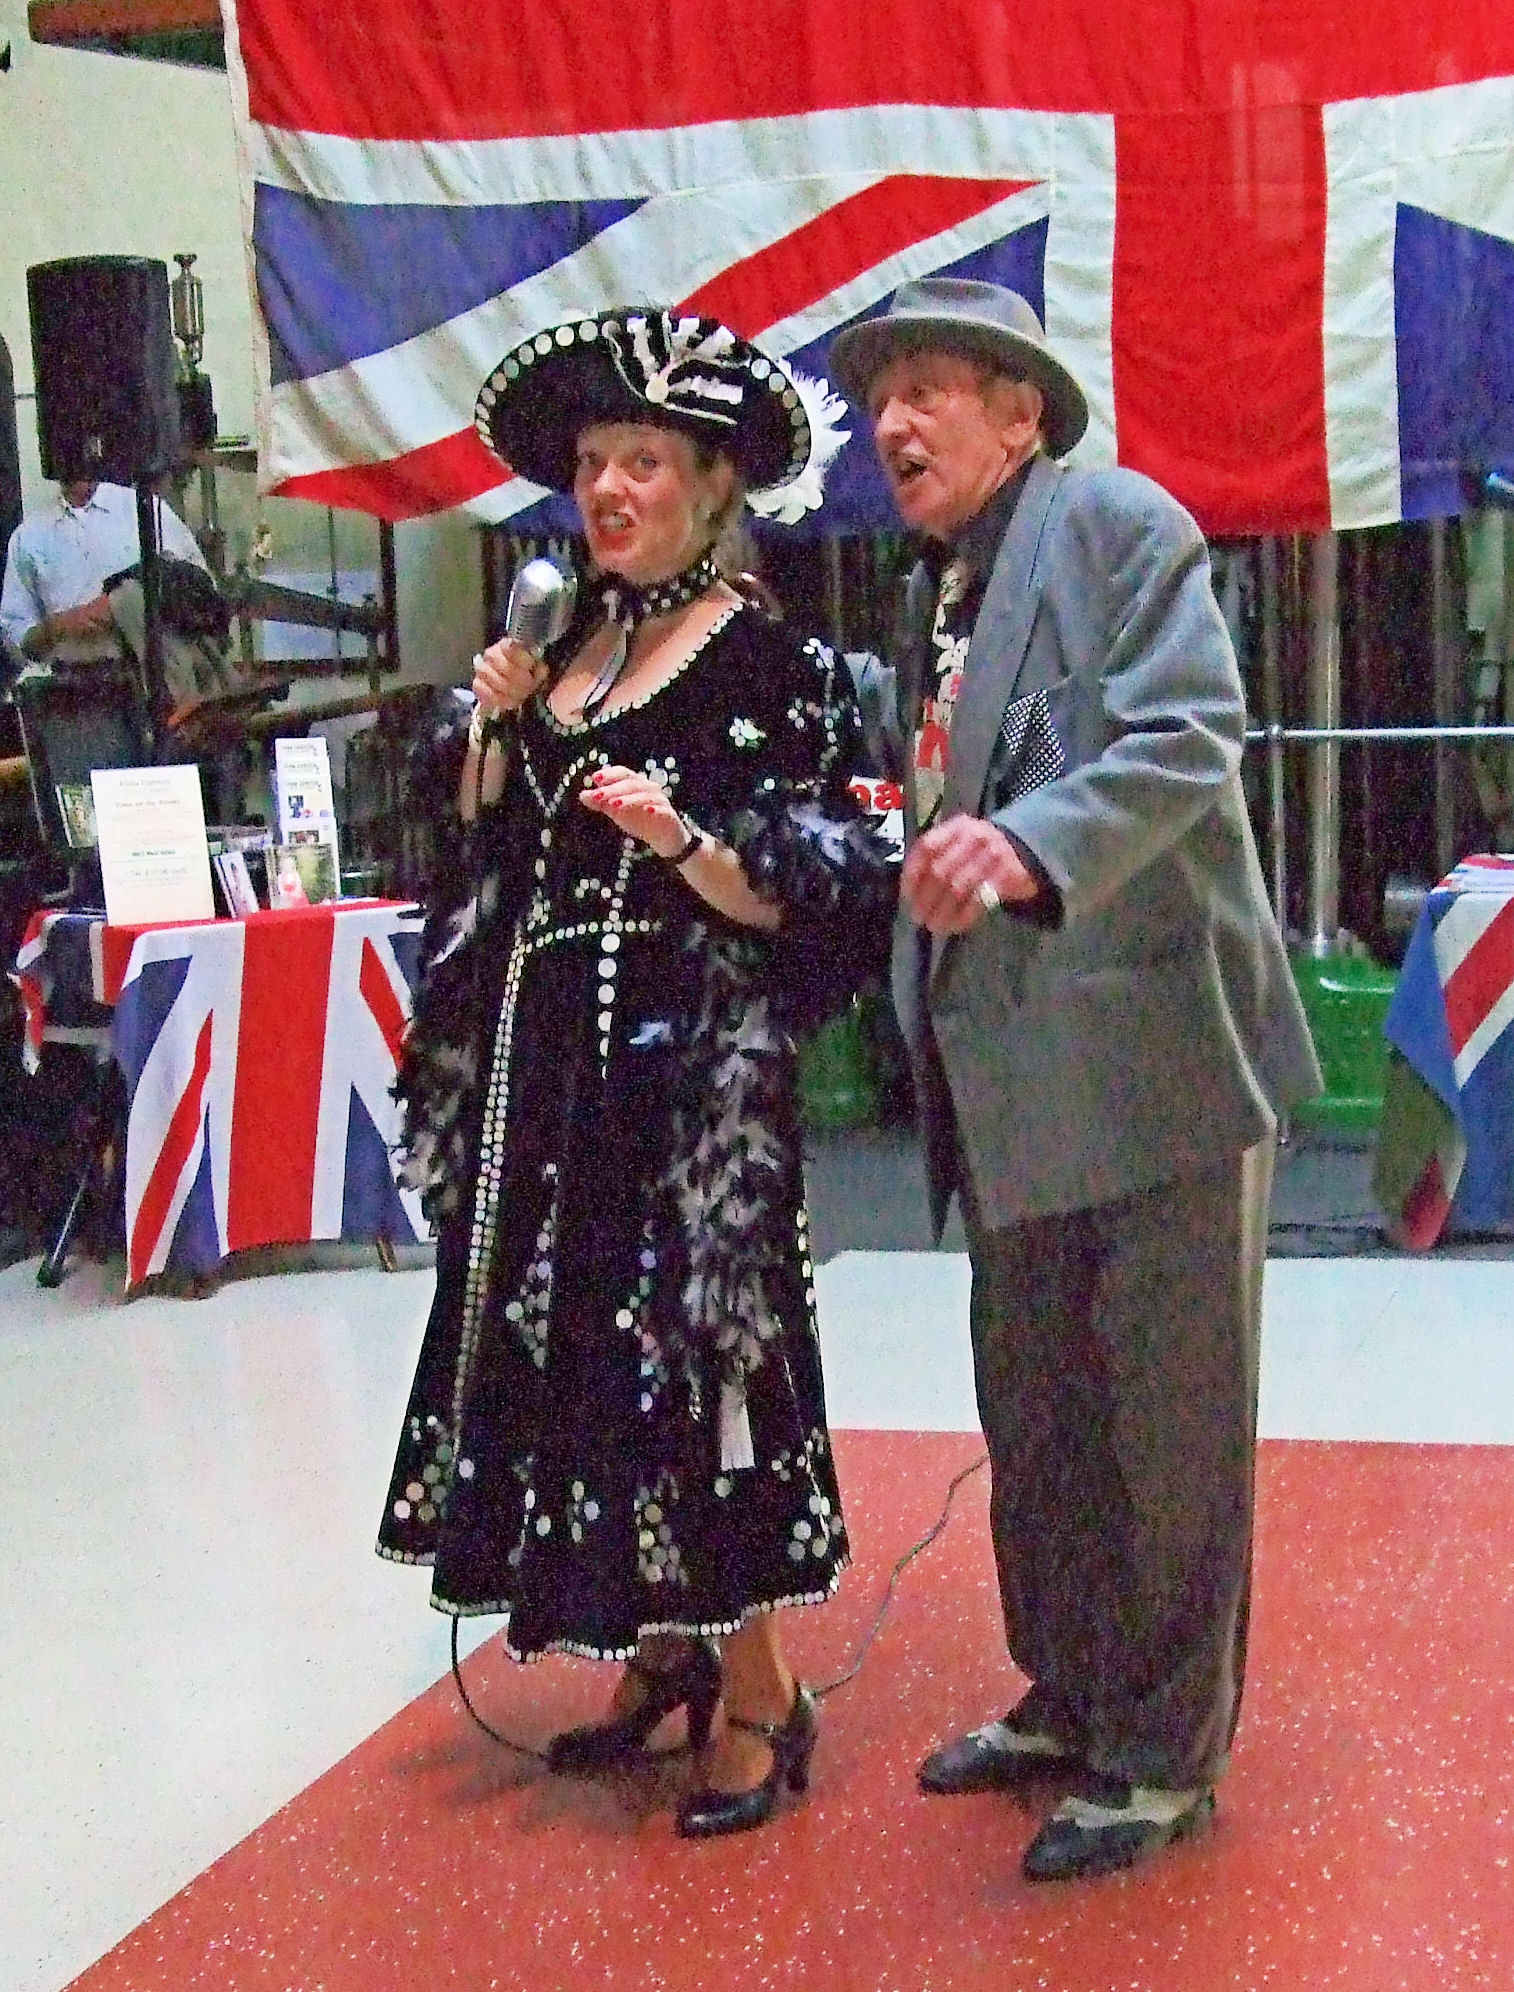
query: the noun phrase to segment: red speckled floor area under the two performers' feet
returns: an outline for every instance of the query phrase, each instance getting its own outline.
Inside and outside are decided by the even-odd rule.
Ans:
[[[839,1440],[857,1568],[791,1616],[839,1673],[966,1436]],[[765,1833],[685,1845],[677,1773],[520,1767],[438,1683],[76,1980],[80,1992],[1464,1992],[1514,1986],[1514,1448],[1269,1444],[1235,1767],[1207,1839],[1028,1888],[1038,1807],[920,1799],[916,1759],[1016,1693],[986,1478],[823,1709],[815,1785]],[[608,1671],[464,1667],[530,1741]],[[1046,1805],[1050,1801],[1042,1801]]]

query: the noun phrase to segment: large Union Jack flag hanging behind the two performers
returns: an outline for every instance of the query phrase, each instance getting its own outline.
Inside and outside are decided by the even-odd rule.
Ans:
[[[827,373],[906,277],[1026,293],[1082,456],[1209,532],[1514,468],[1502,0],[225,0],[269,488],[532,518],[470,410],[574,313]],[[855,422],[821,528],[892,514]],[[544,518],[546,514],[536,514]],[[556,516],[556,514],[554,514]]]

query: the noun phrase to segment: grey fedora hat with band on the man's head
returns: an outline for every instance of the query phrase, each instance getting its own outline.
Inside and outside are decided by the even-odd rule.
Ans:
[[[831,341],[831,371],[865,408],[877,374],[900,353],[964,353],[1032,380],[1046,398],[1042,428],[1052,456],[1066,456],[1088,428],[1088,400],[1046,345],[1042,323],[1002,283],[972,277],[918,277],[900,283],[877,319],[849,325]]]

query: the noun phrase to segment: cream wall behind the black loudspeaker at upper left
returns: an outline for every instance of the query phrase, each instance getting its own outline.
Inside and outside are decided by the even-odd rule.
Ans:
[[[68,255],[151,255],[173,273],[193,251],[205,285],[205,359],[221,434],[253,428],[253,343],[241,245],[227,80],[219,72],[42,48],[28,40],[24,0],[0,0],[0,333],[16,367],[22,484],[50,490],[36,458],[26,271]],[[273,566],[325,568],[327,514],[261,502],[251,478],[223,478],[233,558],[259,522]],[[191,510],[193,516],[193,508]],[[458,518],[396,528],[404,677],[462,681],[480,639],[478,552]],[[343,568],[377,568],[371,520],[339,514]]]

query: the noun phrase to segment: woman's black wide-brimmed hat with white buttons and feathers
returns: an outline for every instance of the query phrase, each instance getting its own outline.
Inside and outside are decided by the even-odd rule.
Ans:
[[[474,426],[532,484],[574,486],[590,422],[653,422],[721,450],[755,512],[793,524],[821,502],[845,414],[821,380],[719,319],[618,305],[554,325],[504,355],[478,390]]]

